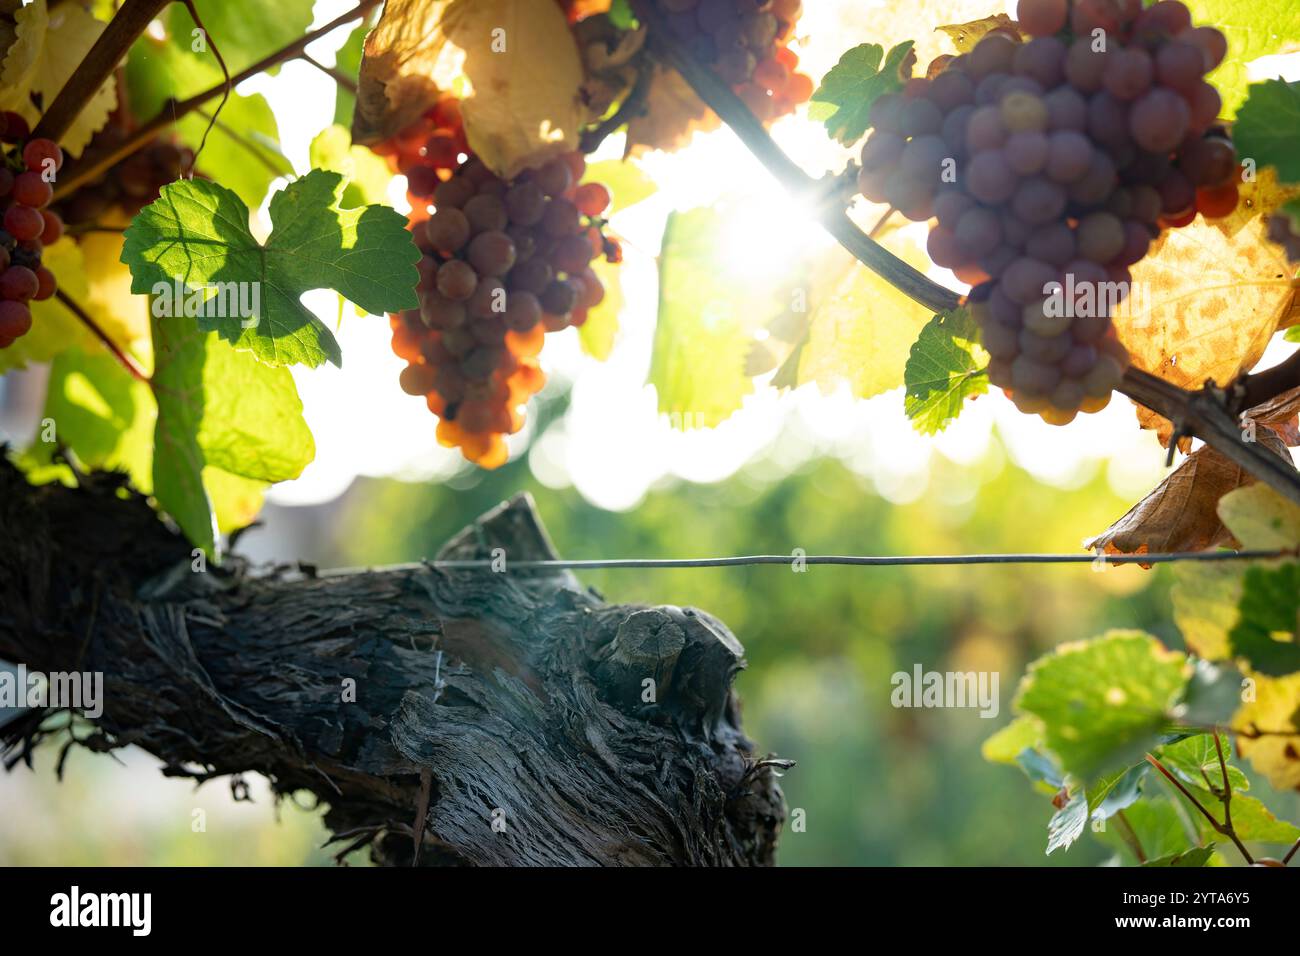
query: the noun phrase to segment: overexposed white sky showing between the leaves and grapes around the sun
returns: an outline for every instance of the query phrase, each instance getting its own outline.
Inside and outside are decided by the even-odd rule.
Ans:
[[[347,0],[320,0],[317,25],[347,7]],[[346,35],[344,29],[308,49],[333,62],[333,48]],[[1252,73],[1277,72],[1277,64],[1257,66],[1261,69]],[[1288,73],[1295,72],[1294,61],[1287,66]],[[295,169],[306,172],[308,144],[333,117],[332,81],[307,64],[290,62],[280,77],[259,77],[240,90],[268,98],[286,155]],[[798,116],[779,122],[774,135],[812,174],[842,163],[842,151],[829,143],[820,126]],[[598,159],[618,157],[620,151],[619,142],[608,142]],[[784,397],[759,386],[719,428],[673,431],[668,419],[656,414],[654,390],[645,384],[656,307],[653,256],[667,213],[710,204],[723,194],[742,196],[745,220],[734,229],[737,263],[745,261],[750,243],[803,248],[829,239],[792,208],[766,170],[725,130],[697,137],[676,155],[653,155],[644,168],[660,191],[612,222],[628,241],[623,267],[627,306],[614,355],[604,363],[584,356],[573,330],[547,336],[542,364],[552,382],[549,388],[572,381],[573,390],[567,416],[529,453],[530,467],[542,483],[573,485],[594,505],[623,510],[636,506],[649,488],[666,479],[716,481],[755,457],[785,471],[812,455],[836,454],[870,477],[885,498],[902,502],[924,492],[935,455],[962,463],[978,460],[994,425],[1010,458],[1046,483],[1071,485],[1105,468],[1117,492],[1136,498],[1164,472],[1164,450],[1149,432],[1138,429],[1132,407],[1122,398],[1100,415],[1056,428],[1019,414],[1000,393],[989,394],[968,403],[946,432],[926,438],[905,419],[901,389],[862,402],[846,392],[822,395],[815,386]],[[391,199],[399,209],[406,209],[403,194],[396,181]],[[935,277],[953,284],[950,273],[936,269]],[[306,298],[332,328],[338,320],[337,302],[328,291]],[[348,315],[338,338],[343,369],[294,369],[317,457],[300,479],[277,485],[270,498],[283,505],[313,503],[341,494],[359,473],[441,480],[464,467],[459,451],[434,441],[436,423],[424,402],[398,389],[403,363],[389,349],[387,321]],[[1290,347],[1275,342],[1264,364],[1273,364]],[[516,454],[529,437],[530,427],[512,440]]]

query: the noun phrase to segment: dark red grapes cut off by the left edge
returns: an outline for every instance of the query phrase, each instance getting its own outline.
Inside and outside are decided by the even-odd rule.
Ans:
[[[18,113],[0,113],[0,143],[26,143],[0,155],[0,349],[31,329],[29,302],[48,299],[57,284],[40,264],[44,247],[64,234],[58,216],[46,207],[53,195],[49,178],[64,163],[58,143],[29,139]]]

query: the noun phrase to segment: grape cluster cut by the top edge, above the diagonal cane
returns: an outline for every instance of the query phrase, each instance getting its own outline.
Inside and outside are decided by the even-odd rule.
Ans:
[[[731,83],[763,122],[785,116],[812,95],[786,44],[802,0],[646,0],[692,53]]]

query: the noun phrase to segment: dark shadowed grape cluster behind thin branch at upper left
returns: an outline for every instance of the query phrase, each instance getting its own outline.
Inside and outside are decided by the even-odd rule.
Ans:
[[[130,135],[131,127],[114,114],[95,138],[87,155],[120,146]],[[57,204],[58,213],[68,225],[104,222],[112,219],[131,219],[159,198],[159,191],[194,166],[194,151],[170,138],[159,137],[139,151],[118,163],[104,176],[78,187]],[[68,164],[68,174],[77,170],[77,163]]]

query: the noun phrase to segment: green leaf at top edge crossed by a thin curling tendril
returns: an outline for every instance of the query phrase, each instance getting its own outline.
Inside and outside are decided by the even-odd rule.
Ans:
[[[251,66],[257,60],[289,46],[306,34],[312,25],[312,0],[194,0],[203,26],[204,38],[183,4],[173,4],[166,18],[173,47],[186,56],[204,57],[216,62],[211,47],[221,49],[221,56],[231,73]]]

